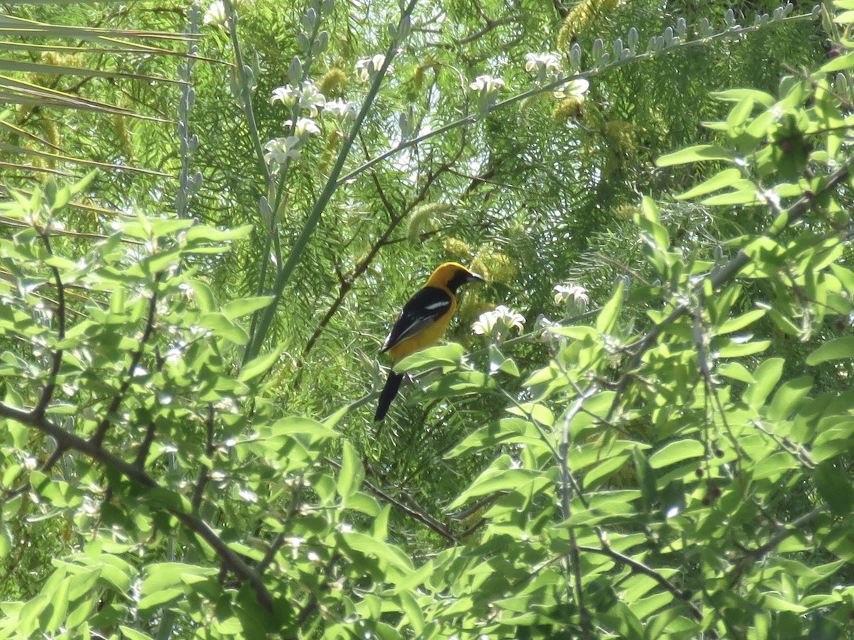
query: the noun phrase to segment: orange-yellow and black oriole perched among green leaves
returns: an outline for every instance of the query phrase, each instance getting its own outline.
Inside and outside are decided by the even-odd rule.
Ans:
[[[380,393],[374,422],[383,420],[401,387],[403,374],[395,373],[394,365],[410,353],[436,344],[457,309],[457,289],[469,282],[486,280],[459,262],[446,262],[437,266],[424,287],[403,305],[400,317],[379,350],[380,353],[389,352],[392,369]]]

